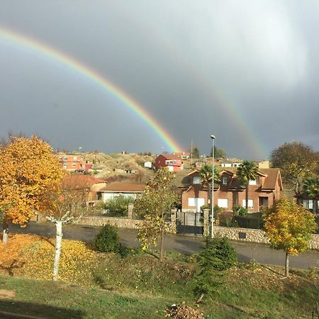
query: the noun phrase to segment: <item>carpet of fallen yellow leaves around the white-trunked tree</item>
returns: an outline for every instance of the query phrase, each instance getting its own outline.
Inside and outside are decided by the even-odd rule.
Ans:
[[[62,242],[58,279],[83,284],[92,276],[97,253],[85,242]],[[13,235],[9,245],[0,243],[0,272],[51,280],[54,252],[54,239],[38,235]]]

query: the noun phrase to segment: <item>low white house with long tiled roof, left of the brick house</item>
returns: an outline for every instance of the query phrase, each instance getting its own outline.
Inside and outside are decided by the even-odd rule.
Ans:
[[[98,198],[102,201],[108,201],[117,196],[136,198],[138,194],[142,194],[145,188],[142,183],[126,183],[123,181],[115,181],[99,190]]]

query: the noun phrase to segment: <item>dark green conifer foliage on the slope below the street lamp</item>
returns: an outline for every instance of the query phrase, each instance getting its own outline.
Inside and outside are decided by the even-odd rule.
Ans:
[[[226,237],[216,237],[198,255],[196,293],[212,295],[223,284],[224,272],[237,264],[237,254]]]

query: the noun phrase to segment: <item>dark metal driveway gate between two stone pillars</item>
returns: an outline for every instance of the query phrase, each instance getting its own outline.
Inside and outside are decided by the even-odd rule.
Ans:
[[[202,213],[177,213],[176,228],[178,234],[203,235]]]

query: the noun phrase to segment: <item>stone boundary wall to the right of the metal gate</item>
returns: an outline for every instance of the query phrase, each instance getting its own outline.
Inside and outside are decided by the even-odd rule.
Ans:
[[[263,230],[214,226],[214,233],[221,237],[228,237],[229,240],[269,244]],[[319,235],[312,235],[310,249],[319,250]]]

